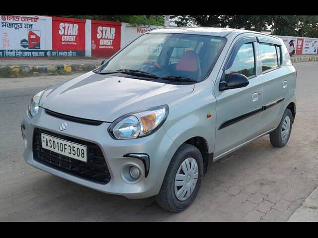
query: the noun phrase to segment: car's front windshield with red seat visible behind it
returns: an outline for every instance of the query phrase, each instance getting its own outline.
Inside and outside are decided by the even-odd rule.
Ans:
[[[215,36],[148,33],[95,72],[199,82],[211,72],[224,44],[225,38]]]

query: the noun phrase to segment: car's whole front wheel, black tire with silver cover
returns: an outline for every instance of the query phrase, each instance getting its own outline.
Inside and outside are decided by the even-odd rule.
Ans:
[[[160,207],[170,212],[181,212],[193,202],[201,186],[203,158],[199,149],[183,144],[173,155],[159,194]]]

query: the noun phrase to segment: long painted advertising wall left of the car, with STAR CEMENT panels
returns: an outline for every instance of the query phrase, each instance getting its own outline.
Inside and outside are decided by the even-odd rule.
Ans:
[[[0,58],[107,58],[159,27],[37,15],[0,15],[0,25]]]

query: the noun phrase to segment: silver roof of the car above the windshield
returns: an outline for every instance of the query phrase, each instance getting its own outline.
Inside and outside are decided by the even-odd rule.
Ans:
[[[218,27],[162,27],[162,28],[155,28],[150,30],[149,33],[181,33],[181,34],[196,34],[196,35],[207,35],[207,36],[219,36],[219,37],[236,37],[242,33],[254,33],[263,35],[266,37],[272,37],[278,39],[275,36],[260,33],[257,31],[248,31],[248,30],[241,30],[241,29],[232,29],[232,28],[218,28]]]

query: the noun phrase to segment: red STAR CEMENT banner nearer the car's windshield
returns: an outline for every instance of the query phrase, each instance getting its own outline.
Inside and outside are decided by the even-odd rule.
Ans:
[[[121,22],[91,21],[92,57],[110,57],[120,50]]]

